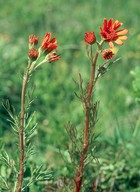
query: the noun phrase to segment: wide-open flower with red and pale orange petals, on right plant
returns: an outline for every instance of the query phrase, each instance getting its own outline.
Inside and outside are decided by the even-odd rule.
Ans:
[[[118,20],[113,20],[112,18],[107,21],[104,19],[103,27],[100,27],[100,35],[102,36],[103,40],[107,41],[110,47],[114,47],[113,42],[117,43],[118,45],[122,45],[122,40],[126,40],[128,33],[127,29],[118,30],[123,23],[119,22]]]

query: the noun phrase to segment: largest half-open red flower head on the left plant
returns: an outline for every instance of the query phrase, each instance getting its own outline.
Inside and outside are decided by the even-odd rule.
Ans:
[[[46,52],[50,53],[58,47],[56,38],[51,39],[51,33],[46,33],[42,40],[41,48]]]

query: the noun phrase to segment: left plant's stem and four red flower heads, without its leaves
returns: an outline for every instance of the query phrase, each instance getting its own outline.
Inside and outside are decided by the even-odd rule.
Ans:
[[[45,37],[42,40],[42,44],[40,48],[37,50],[35,45],[38,44],[39,38],[35,35],[29,36],[29,62],[26,67],[25,74],[23,76],[22,81],[22,91],[21,91],[21,110],[20,110],[20,126],[18,127],[19,134],[19,174],[16,182],[16,192],[21,192],[23,189],[23,179],[24,179],[24,163],[26,159],[26,151],[25,151],[25,115],[27,113],[25,104],[26,104],[26,92],[27,86],[30,79],[31,74],[44,63],[49,63],[50,58],[51,62],[58,61],[60,59],[60,55],[57,55],[55,52],[51,53],[53,50],[57,48],[57,40],[56,38],[50,39],[51,33],[46,33]],[[40,57],[44,57],[42,61],[39,62]]]

